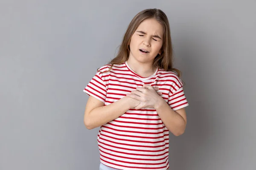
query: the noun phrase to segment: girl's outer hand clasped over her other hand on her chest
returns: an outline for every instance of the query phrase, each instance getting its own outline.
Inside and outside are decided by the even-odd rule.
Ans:
[[[137,105],[135,109],[155,108],[157,103],[163,99],[151,85],[143,85],[142,88],[138,87],[135,91],[131,91],[131,94],[127,94],[126,96],[140,101],[140,105]]]

